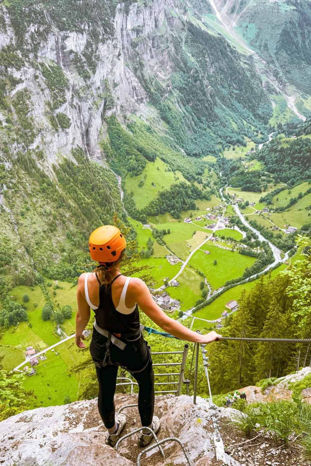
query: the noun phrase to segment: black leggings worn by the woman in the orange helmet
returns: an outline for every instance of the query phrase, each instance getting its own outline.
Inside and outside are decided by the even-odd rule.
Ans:
[[[92,341],[90,343],[90,354],[94,362],[103,361],[106,352],[105,343],[107,338],[93,329]],[[123,340],[125,342],[125,340]],[[149,355],[147,344],[141,336],[136,342],[125,342],[126,347],[122,350],[111,344],[111,361],[117,365],[107,365],[105,367],[96,366],[98,380],[98,411],[107,429],[115,425],[115,404],[114,394],[116,390],[116,380],[118,366],[122,365],[129,372],[141,370],[141,372],[131,372],[138,382],[138,411],[141,425],[151,425],[154,410],[154,373],[152,360]],[[149,362],[148,362],[149,360]],[[147,363],[148,362],[148,363]]]

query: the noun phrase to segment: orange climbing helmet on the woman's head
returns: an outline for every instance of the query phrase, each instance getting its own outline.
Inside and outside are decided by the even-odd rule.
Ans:
[[[115,262],[125,247],[125,238],[116,226],[100,226],[90,234],[90,256],[98,262]]]

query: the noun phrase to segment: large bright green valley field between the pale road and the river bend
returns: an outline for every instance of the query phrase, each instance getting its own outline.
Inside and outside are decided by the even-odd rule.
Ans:
[[[212,243],[208,244],[208,250],[211,254],[196,251],[189,263],[205,274],[214,289],[220,288],[227,280],[240,277],[245,268],[256,260],[254,257],[215,247]],[[214,260],[217,260],[217,265],[214,265]]]

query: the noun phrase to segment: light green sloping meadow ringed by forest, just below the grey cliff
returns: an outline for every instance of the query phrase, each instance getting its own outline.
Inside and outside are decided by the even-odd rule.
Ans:
[[[140,187],[141,180],[145,181]],[[154,162],[147,161],[141,175],[131,177],[128,174],[125,178],[125,189],[134,193],[133,199],[138,209],[142,209],[155,199],[159,192],[180,181],[187,182],[180,171],[168,171],[168,165],[157,157]]]

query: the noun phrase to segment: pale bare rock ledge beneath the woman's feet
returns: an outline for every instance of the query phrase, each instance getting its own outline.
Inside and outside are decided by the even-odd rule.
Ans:
[[[137,402],[137,395],[115,397],[116,411],[121,406]],[[231,411],[220,408],[221,416]],[[124,435],[140,426],[137,408],[128,408],[128,421]],[[210,440],[212,410],[207,402],[197,397],[182,395],[156,397],[155,414],[161,418],[158,438],[177,437],[195,466],[214,463],[214,447]],[[97,399],[77,401],[62,406],[50,406],[24,411],[0,423],[0,464],[13,466],[55,464],[57,466],[96,465],[133,466],[141,449],[138,434],[125,439],[118,452],[105,445],[103,422],[97,411]],[[148,464],[164,466],[185,465],[180,445],[167,442],[163,445],[164,460],[157,448],[148,452]],[[15,461],[15,463],[14,463]],[[145,462],[142,463],[147,464]]]

